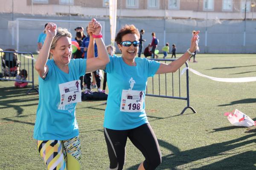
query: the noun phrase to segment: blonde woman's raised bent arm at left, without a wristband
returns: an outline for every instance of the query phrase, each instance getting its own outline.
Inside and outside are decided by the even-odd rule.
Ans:
[[[45,31],[47,35],[44,41],[44,45],[41,48],[41,51],[38,55],[38,59],[35,62],[35,70],[38,72],[39,76],[43,79],[45,78],[49,70],[48,66],[46,65],[46,62],[49,56],[53,37],[55,37],[57,32],[56,24],[48,23],[45,28]]]

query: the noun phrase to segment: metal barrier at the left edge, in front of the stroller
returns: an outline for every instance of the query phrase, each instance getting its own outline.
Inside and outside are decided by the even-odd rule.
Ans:
[[[7,49],[0,51],[0,57],[0,80],[15,81],[15,86],[22,83],[25,83],[23,85],[32,83],[32,88],[26,94],[32,90],[38,93],[34,85],[34,57],[32,53]]]

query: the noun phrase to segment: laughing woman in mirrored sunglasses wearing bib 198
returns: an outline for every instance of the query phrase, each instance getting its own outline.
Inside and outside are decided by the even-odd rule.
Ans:
[[[136,57],[140,33],[134,25],[125,25],[116,36],[122,56],[110,57],[102,67],[107,74],[109,88],[104,119],[104,135],[110,159],[109,170],[122,170],[125,163],[127,138],[143,153],[138,170],[154,170],[161,163],[157,138],[145,113],[145,88],[148,77],[175,72],[192,55],[197,46],[197,34],[191,47],[182,57],[170,64]]]

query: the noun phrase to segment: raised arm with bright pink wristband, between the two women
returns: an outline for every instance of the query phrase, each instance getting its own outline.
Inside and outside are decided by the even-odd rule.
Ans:
[[[87,58],[86,72],[92,72],[92,71],[96,71],[98,69],[105,69],[106,64],[108,64],[108,62],[110,61],[109,57],[108,57],[108,51],[107,51],[105,44],[102,40],[101,29],[102,29],[102,26],[100,25],[100,23],[98,23],[96,21],[96,19],[93,18],[92,21],[89,23],[88,32],[92,32],[92,34],[96,37],[94,39],[95,39],[97,49],[98,49],[98,57]],[[91,38],[90,38],[90,40],[91,40]],[[92,42],[93,42],[93,40],[92,40]],[[93,44],[92,44],[92,46],[94,48]],[[90,51],[90,50],[93,52],[93,55],[94,55],[94,49],[91,49],[91,48],[88,49],[88,51]],[[88,56],[88,54],[87,54],[87,56]]]

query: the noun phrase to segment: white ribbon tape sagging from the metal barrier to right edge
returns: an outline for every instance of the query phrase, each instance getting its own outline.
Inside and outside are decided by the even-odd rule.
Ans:
[[[192,73],[198,75],[198,76],[205,77],[205,78],[207,78],[207,79],[212,79],[212,80],[218,81],[218,82],[255,82],[255,81],[256,81],[256,77],[241,77],[241,78],[218,78],[218,77],[210,77],[210,76],[201,74],[200,72],[195,71],[194,69],[188,68],[188,67],[183,68],[183,70],[181,71],[181,75],[184,74],[184,72],[185,72],[187,69],[188,69],[189,71],[191,71]]]

